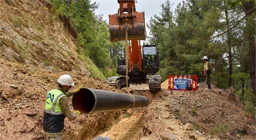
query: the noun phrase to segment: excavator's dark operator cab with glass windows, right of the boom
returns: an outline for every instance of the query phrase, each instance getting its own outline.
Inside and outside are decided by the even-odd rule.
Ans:
[[[157,45],[143,45],[142,55],[143,72],[147,74],[156,74],[159,71]]]

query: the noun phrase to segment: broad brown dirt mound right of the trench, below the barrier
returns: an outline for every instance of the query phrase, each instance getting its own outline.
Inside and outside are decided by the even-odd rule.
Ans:
[[[239,98],[206,88],[158,92],[145,112],[141,139],[254,139],[255,119],[244,114]]]

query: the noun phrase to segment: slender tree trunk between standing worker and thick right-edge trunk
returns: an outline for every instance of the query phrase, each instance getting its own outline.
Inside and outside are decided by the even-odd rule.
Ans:
[[[229,17],[227,12],[227,7],[225,7],[225,18],[226,18],[226,24],[227,29],[229,29]],[[231,44],[231,31],[227,31],[227,47],[228,47],[228,54],[229,54],[229,82],[227,84],[227,88],[230,88],[232,85],[232,44]]]

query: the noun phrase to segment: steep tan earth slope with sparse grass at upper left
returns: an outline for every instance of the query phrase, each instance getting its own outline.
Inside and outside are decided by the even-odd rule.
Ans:
[[[0,58],[53,71],[89,72],[76,41],[43,0],[0,0]],[[45,7],[48,6],[48,7]]]

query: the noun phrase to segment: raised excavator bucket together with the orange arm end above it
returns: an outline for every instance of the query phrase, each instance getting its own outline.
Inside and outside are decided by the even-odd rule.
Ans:
[[[144,12],[136,12],[135,0],[118,0],[118,13],[109,16],[110,41],[126,40],[125,26],[128,28],[128,40],[146,40]]]

